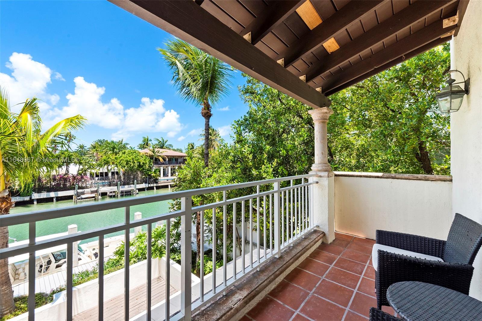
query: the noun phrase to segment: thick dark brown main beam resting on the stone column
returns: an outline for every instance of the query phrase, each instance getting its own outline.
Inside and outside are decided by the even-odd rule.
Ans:
[[[331,101],[192,0],[110,0],[120,8],[230,64],[302,103]]]

